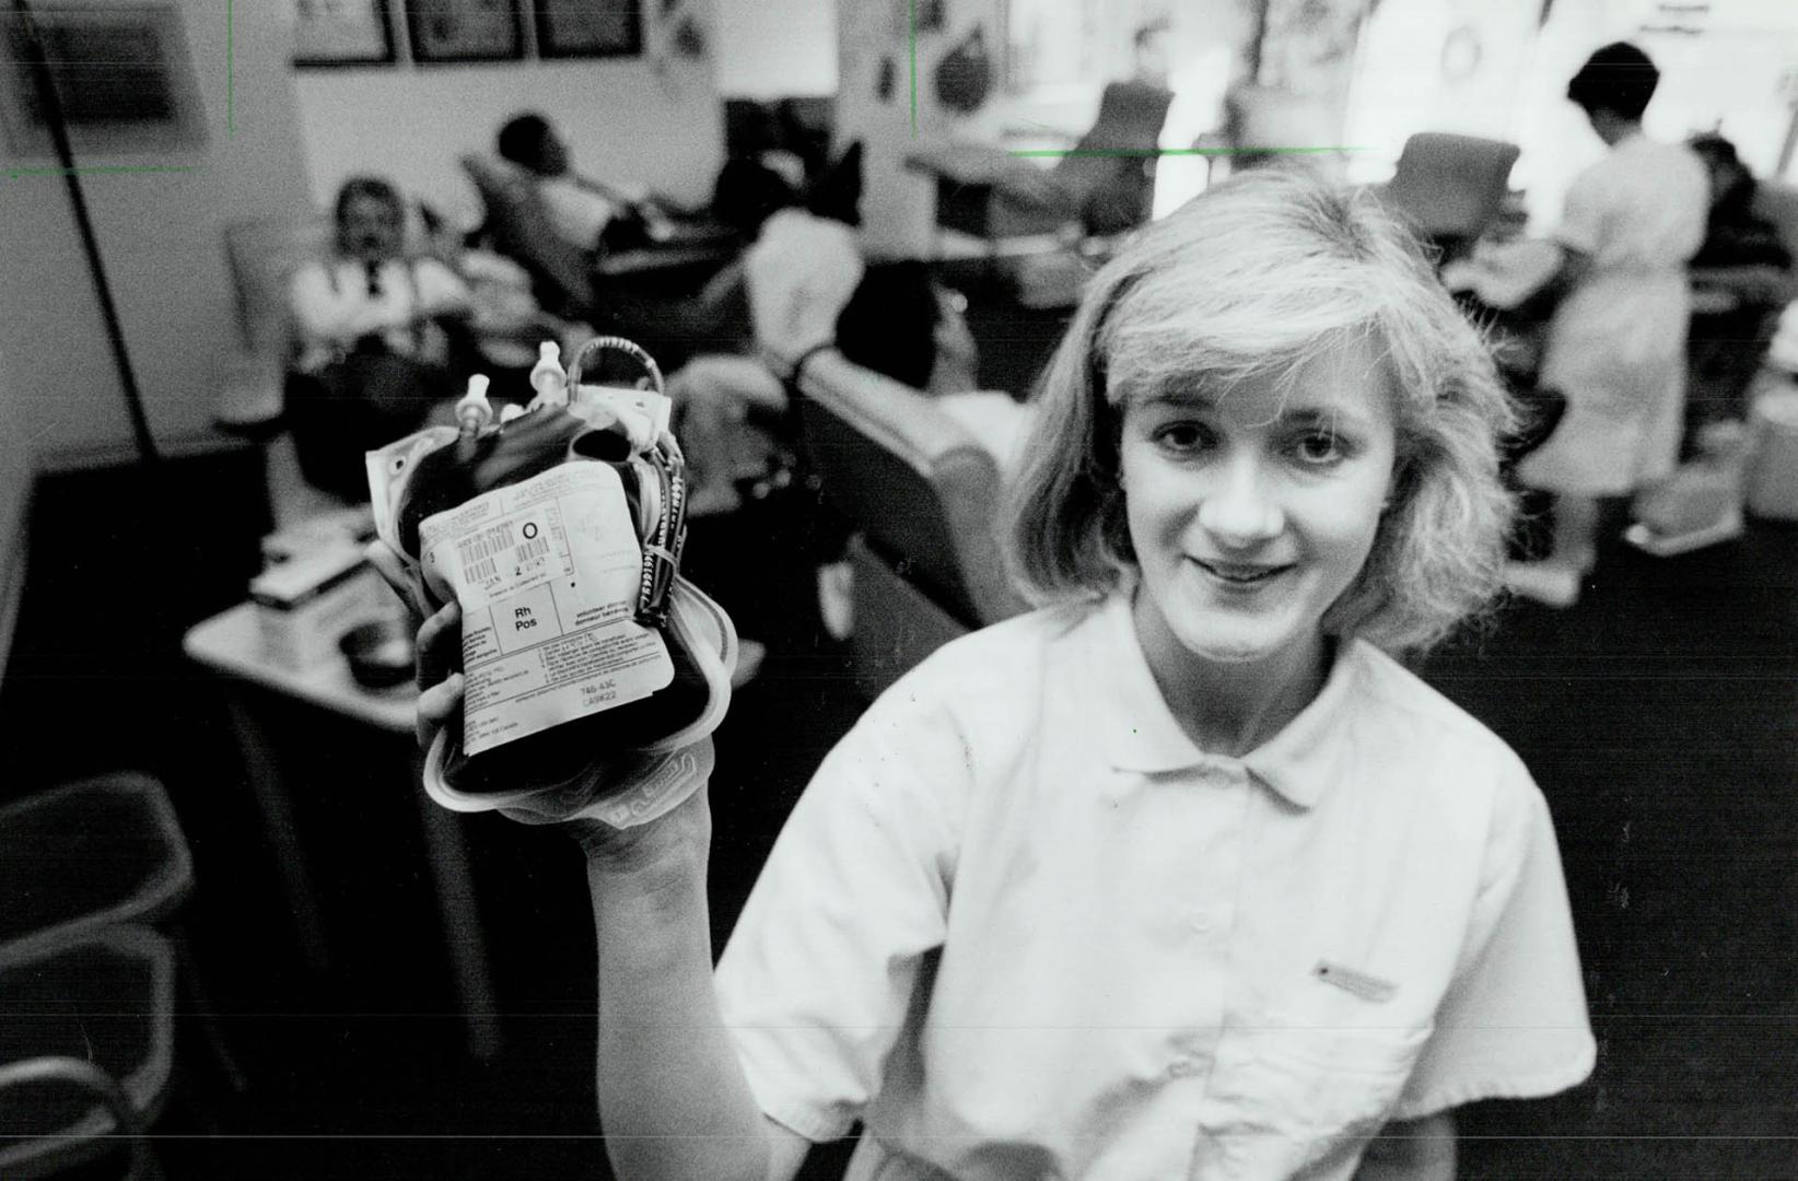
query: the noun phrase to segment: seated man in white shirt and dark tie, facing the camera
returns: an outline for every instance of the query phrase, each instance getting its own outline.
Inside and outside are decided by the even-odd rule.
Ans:
[[[473,365],[469,288],[442,261],[408,255],[399,191],[374,176],[343,182],[331,257],[288,288],[298,354],[286,413],[300,471],[315,487],[369,498],[363,453],[421,428]]]

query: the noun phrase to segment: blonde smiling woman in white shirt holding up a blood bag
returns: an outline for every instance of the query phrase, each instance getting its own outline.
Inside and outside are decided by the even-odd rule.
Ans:
[[[716,974],[705,795],[575,829],[619,1176],[793,1177],[859,1122],[856,1181],[1449,1177],[1455,1107],[1591,1070],[1543,796],[1395,660],[1510,519],[1505,397],[1404,232],[1212,189],[1093,279],[1036,406],[1045,606],[868,708]]]

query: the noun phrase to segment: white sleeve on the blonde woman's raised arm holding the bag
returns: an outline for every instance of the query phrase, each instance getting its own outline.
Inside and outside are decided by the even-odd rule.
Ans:
[[[823,760],[717,967],[750,1089],[814,1141],[843,1136],[877,1091],[948,928],[969,759],[948,714],[904,687]]]

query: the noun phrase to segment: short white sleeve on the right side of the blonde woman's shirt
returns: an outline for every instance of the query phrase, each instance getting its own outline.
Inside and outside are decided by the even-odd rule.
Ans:
[[[1395,1118],[1535,1098],[1591,1073],[1573,917],[1548,804],[1523,771],[1500,796],[1473,922]]]

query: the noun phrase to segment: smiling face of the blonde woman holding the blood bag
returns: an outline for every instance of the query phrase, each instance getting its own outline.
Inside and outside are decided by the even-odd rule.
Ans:
[[[1286,379],[1131,392],[1118,466],[1151,667],[1271,670],[1322,653],[1323,613],[1374,548],[1395,455],[1392,392],[1363,345]]]

